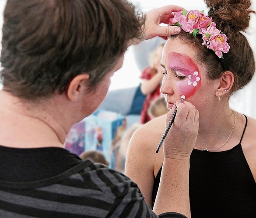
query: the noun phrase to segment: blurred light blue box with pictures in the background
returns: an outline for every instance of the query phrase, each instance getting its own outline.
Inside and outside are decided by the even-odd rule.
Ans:
[[[126,129],[125,116],[111,111],[97,110],[84,119],[85,150],[102,152],[109,168],[116,168],[116,156]]]

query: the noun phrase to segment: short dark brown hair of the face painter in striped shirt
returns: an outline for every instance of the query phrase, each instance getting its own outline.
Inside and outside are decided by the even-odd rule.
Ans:
[[[63,93],[90,75],[90,90],[113,68],[144,17],[126,0],[7,0],[2,51],[4,90],[21,99]]]

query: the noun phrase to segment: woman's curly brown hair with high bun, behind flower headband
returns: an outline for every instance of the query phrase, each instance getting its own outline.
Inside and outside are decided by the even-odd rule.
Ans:
[[[217,55],[202,46],[202,37],[182,31],[181,34],[169,38],[179,38],[185,44],[192,44],[196,51],[196,57],[207,67],[207,78],[214,80],[220,78],[225,70],[234,74],[235,82],[231,93],[242,89],[250,82],[255,72],[255,60],[252,48],[242,31],[249,27],[251,2],[249,0],[205,0],[209,7],[208,15],[212,17],[216,27],[228,37],[230,50],[224,54],[225,67]]]

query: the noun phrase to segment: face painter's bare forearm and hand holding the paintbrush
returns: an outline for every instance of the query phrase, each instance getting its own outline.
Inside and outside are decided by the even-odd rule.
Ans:
[[[163,143],[164,163],[153,210],[156,214],[176,211],[190,217],[189,157],[196,143],[199,113],[189,102],[176,104],[177,116]]]

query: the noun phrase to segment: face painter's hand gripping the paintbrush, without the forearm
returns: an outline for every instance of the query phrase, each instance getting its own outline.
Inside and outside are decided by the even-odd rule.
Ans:
[[[196,143],[199,112],[190,102],[176,102],[177,115],[163,143],[164,157],[183,159],[190,157]],[[174,109],[167,114],[166,125]]]

